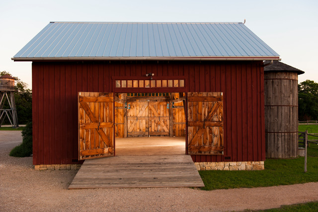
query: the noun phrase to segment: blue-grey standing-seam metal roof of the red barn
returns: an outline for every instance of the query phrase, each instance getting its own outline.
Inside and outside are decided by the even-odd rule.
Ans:
[[[12,60],[279,60],[243,23],[50,22]]]

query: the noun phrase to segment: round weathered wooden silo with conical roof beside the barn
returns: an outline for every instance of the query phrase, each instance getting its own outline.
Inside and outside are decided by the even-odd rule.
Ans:
[[[305,72],[279,61],[264,67],[267,158],[298,156],[298,75]]]

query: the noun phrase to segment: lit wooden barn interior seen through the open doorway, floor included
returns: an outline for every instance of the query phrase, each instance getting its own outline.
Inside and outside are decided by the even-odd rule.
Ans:
[[[185,93],[116,93],[116,155],[185,154]]]

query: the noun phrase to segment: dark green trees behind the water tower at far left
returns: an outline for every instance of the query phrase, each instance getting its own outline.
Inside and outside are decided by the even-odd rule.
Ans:
[[[0,77],[8,74],[12,76],[10,73],[6,71],[0,72]],[[26,124],[27,122],[32,120],[32,91],[27,89],[27,84],[22,82],[19,78],[15,77],[17,80],[15,81],[14,89],[14,99],[16,106],[16,113],[18,116],[19,124]],[[7,102],[4,105],[4,108],[9,108]],[[8,120],[5,120],[6,124],[9,123]]]

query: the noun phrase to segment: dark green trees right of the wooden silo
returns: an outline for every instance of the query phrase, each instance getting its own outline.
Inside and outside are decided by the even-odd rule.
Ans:
[[[318,83],[306,80],[298,85],[298,117],[318,120]]]

